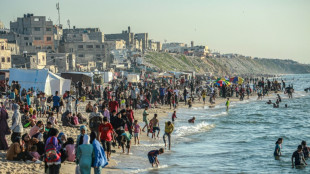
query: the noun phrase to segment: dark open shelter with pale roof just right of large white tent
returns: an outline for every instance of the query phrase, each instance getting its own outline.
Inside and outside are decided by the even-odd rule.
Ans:
[[[84,84],[87,86],[90,86],[93,81],[93,73],[68,72],[68,73],[61,73],[61,77],[72,80],[74,84],[83,80]]]

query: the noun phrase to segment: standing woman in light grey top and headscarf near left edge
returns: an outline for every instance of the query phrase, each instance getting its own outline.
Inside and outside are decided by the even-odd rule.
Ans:
[[[13,131],[13,133],[11,135],[11,141],[13,142],[16,137],[22,136],[22,133],[24,130],[23,130],[23,124],[22,124],[22,120],[21,120],[21,115],[19,112],[19,105],[14,104],[12,106],[12,109],[14,110],[14,114],[12,116],[12,126],[10,129]]]

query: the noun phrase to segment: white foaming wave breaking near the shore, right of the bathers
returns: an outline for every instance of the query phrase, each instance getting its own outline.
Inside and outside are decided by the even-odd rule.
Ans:
[[[185,135],[191,135],[191,134],[195,134],[195,133],[200,133],[200,132],[206,132],[212,128],[214,128],[215,125],[214,124],[209,124],[206,122],[201,122],[198,124],[190,124],[188,123],[187,126],[181,126],[176,128],[175,130],[175,135],[176,137],[181,137],[181,136],[185,136]]]

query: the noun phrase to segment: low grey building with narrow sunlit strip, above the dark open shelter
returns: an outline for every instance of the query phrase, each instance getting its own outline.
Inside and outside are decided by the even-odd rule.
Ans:
[[[55,73],[75,71],[75,54],[71,53],[47,53],[46,65]],[[54,65],[54,67],[52,67]]]

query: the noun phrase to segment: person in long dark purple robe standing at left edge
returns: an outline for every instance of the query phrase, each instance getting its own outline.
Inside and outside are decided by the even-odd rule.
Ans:
[[[5,138],[5,135],[11,134],[7,121],[8,118],[8,113],[3,105],[0,108],[0,150],[7,150],[9,148]]]

